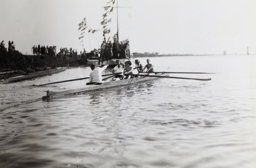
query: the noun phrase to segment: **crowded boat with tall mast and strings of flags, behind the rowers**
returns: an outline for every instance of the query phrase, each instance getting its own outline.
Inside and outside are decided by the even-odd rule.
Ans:
[[[111,24],[111,14],[116,9],[116,28],[117,31],[112,37],[112,31],[110,28]],[[98,65],[104,66],[109,64],[109,66],[113,67],[116,65],[116,60],[120,60],[122,63],[126,61],[133,61],[133,54],[130,52],[129,40],[119,39],[119,25],[118,25],[118,4],[117,0],[110,0],[107,3],[107,6],[104,6],[105,13],[102,15],[103,21],[100,23],[102,25],[102,29],[92,29],[87,26],[86,19],[79,23],[79,31],[81,34],[79,36],[79,40],[81,40],[80,44],[83,43],[84,33],[87,30],[88,33],[94,34],[95,32],[103,30],[103,40],[100,46],[99,58],[97,58]],[[92,62],[95,62],[93,60]],[[88,61],[88,64],[92,63]]]

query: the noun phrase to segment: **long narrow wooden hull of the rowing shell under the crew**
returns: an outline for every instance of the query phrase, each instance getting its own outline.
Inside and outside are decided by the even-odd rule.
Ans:
[[[158,76],[169,76],[169,74],[157,74]],[[68,95],[79,95],[83,94],[86,92],[94,92],[97,90],[105,90],[113,87],[121,87],[121,86],[126,86],[126,85],[131,85],[131,84],[137,84],[145,81],[151,81],[158,79],[158,77],[148,77],[148,76],[141,76],[137,78],[130,78],[130,79],[123,79],[119,81],[108,81],[104,82],[100,85],[86,85],[83,88],[79,89],[73,89],[73,90],[65,90],[61,92],[50,92],[47,90],[47,95],[43,96],[43,101],[52,99],[52,98],[60,98],[63,96],[68,96]]]

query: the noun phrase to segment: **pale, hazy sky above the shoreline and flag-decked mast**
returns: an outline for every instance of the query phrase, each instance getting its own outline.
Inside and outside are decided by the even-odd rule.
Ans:
[[[104,6],[111,0],[0,0],[0,41],[32,54],[34,45],[98,49],[103,31],[84,34],[79,23],[102,29]],[[132,53],[256,53],[255,0],[118,0],[119,41]],[[116,6],[116,3],[115,3]],[[110,36],[117,30],[116,8]],[[113,39],[111,39],[113,42]],[[83,46],[82,46],[83,45]]]

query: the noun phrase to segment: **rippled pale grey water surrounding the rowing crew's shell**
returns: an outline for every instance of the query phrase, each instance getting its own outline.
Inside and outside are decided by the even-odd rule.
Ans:
[[[90,68],[0,85],[0,168],[255,168],[256,56],[150,59],[157,71],[216,74],[49,102],[44,91],[87,80],[31,85],[88,77]]]

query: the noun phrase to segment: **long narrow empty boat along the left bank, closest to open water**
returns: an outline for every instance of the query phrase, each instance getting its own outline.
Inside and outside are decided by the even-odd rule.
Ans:
[[[0,84],[7,84],[7,83],[11,83],[11,82],[17,82],[17,81],[23,81],[23,80],[26,80],[26,79],[31,79],[31,78],[41,77],[41,76],[47,76],[47,75],[51,75],[51,74],[54,74],[54,73],[60,73],[64,70],[66,70],[66,69],[67,69],[67,67],[58,67],[58,68],[55,68],[55,69],[52,69],[52,70],[43,70],[43,71],[39,71],[39,72],[29,73],[28,75],[6,78],[6,79],[0,80]]]

